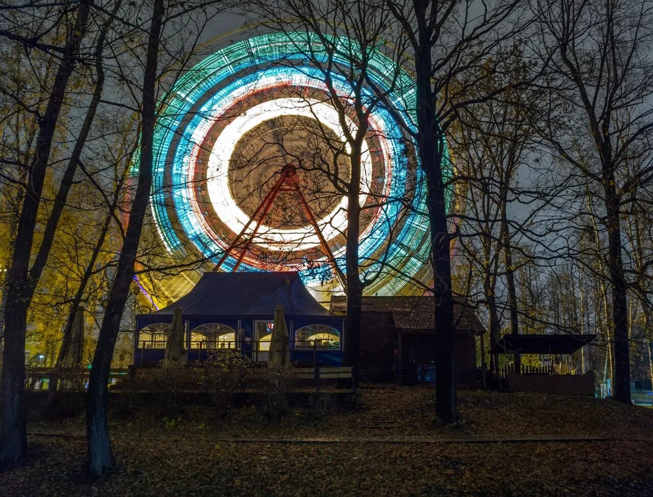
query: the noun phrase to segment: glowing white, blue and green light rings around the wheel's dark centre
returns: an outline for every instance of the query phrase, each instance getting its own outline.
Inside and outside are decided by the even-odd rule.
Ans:
[[[360,52],[347,38],[335,41],[343,49],[339,53]],[[230,164],[238,144],[254,128],[275,119],[301,117],[315,119],[338,138],[343,136],[338,112],[330,105],[325,74],[311,65],[307,53],[313,59],[328,59],[311,33],[250,38],[206,57],[174,84],[157,117],[151,192],[157,229],[170,252],[200,254],[215,263],[244,229],[251,213],[232,195]],[[349,64],[344,55],[336,55],[332,62]],[[362,103],[371,111],[370,133],[362,147],[359,201],[366,217],[359,255],[363,271],[377,275],[366,293],[394,295],[408,279],[424,273],[430,252],[424,175],[415,164],[408,164],[417,162],[415,143],[406,133],[415,130],[415,83],[379,52],[370,53],[368,75],[389,94],[392,112],[375,104],[366,90]],[[330,78],[341,102],[351,103],[350,83],[337,70]],[[349,130],[356,130],[353,117],[345,122]],[[344,138],[340,140],[349,152]],[[442,166],[448,177],[450,158],[443,145],[447,152]],[[343,273],[346,207],[342,196],[317,220]],[[246,235],[252,232],[250,225]],[[263,224],[252,241],[253,250],[244,255],[240,270],[297,270],[313,288],[334,280],[327,257],[315,256],[320,240],[308,222],[289,228]],[[266,254],[281,252],[291,256],[268,262]],[[221,270],[231,271],[237,256],[237,251],[230,253]]]

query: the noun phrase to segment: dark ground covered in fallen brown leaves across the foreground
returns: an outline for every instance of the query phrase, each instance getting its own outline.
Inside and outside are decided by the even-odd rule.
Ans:
[[[653,495],[653,409],[612,400],[460,391],[434,422],[434,390],[360,389],[358,408],[112,412],[118,470],[82,480],[84,419],[30,423],[31,455],[0,473],[29,496]]]

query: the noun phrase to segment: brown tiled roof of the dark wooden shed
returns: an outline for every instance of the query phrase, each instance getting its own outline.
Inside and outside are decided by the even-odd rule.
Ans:
[[[364,295],[362,312],[379,312],[392,314],[394,325],[402,330],[433,331],[435,329],[435,297],[374,297]],[[331,312],[343,313],[347,310],[346,295],[331,297]],[[454,295],[454,323],[459,332],[473,335],[482,334],[485,329],[477,318],[471,305],[464,297]]]

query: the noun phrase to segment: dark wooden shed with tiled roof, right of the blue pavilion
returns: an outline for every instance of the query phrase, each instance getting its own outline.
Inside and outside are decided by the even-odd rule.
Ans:
[[[334,296],[330,311],[345,314],[347,297]],[[364,296],[360,320],[360,375],[404,384],[434,382],[435,298]],[[464,297],[454,297],[456,380],[476,381],[476,337],[483,325]]]

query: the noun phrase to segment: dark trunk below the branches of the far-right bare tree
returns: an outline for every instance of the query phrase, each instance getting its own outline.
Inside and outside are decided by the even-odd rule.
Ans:
[[[628,304],[626,278],[622,261],[619,205],[614,177],[611,175],[605,190],[605,210],[608,232],[609,271],[612,287],[614,325],[614,398],[630,404],[630,351],[628,345]]]

